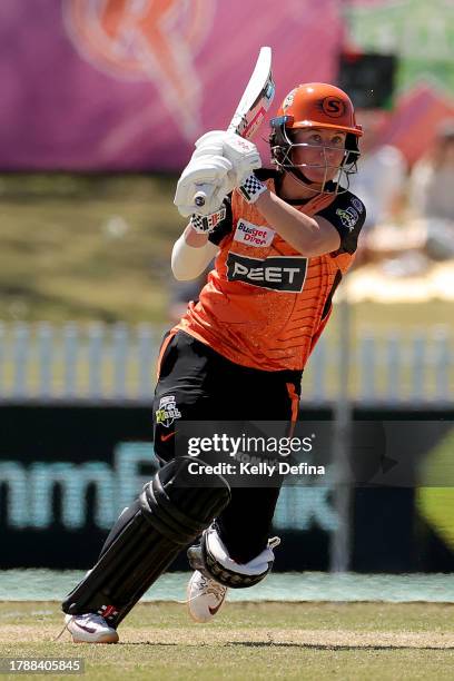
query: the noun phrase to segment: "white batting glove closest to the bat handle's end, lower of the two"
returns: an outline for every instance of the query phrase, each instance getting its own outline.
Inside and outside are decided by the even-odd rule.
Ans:
[[[182,171],[175,193],[174,204],[184,217],[197,214],[207,216],[216,213],[227,194],[236,186],[233,166],[224,156],[201,156],[194,158]],[[207,193],[207,187],[211,191]],[[199,190],[206,193],[204,206],[195,204]]]

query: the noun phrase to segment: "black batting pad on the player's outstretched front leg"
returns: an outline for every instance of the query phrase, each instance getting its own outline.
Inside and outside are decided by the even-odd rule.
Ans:
[[[178,553],[230,501],[216,474],[191,475],[190,456],[166,464],[145,485],[138,511],[62,603],[69,614],[97,612],[117,626]]]

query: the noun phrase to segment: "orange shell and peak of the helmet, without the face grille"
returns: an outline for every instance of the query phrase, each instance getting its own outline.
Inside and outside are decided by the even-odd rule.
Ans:
[[[348,95],[325,82],[307,82],[294,88],[277,116],[287,118],[286,128],[336,128],[356,137],[363,135]]]

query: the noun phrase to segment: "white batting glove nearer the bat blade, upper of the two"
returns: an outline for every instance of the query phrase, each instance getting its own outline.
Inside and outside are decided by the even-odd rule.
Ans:
[[[211,130],[196,141],[193,158],[216,154],[227,158],[236,175],[236,185],[243,181],[257,168],[261,168],[260,155],[254,142],[244,139],[235,132]]]

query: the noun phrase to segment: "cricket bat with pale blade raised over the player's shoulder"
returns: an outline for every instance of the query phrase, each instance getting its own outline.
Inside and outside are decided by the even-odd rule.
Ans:
[[[236,132],[245,139],[251,139],[272,106],[276,86],[272,73],[272,48],[263,47],[227,130]],[[213,185],[201,185],[194,197],[195,205],[205,206],[205,201],[214,190]]]

